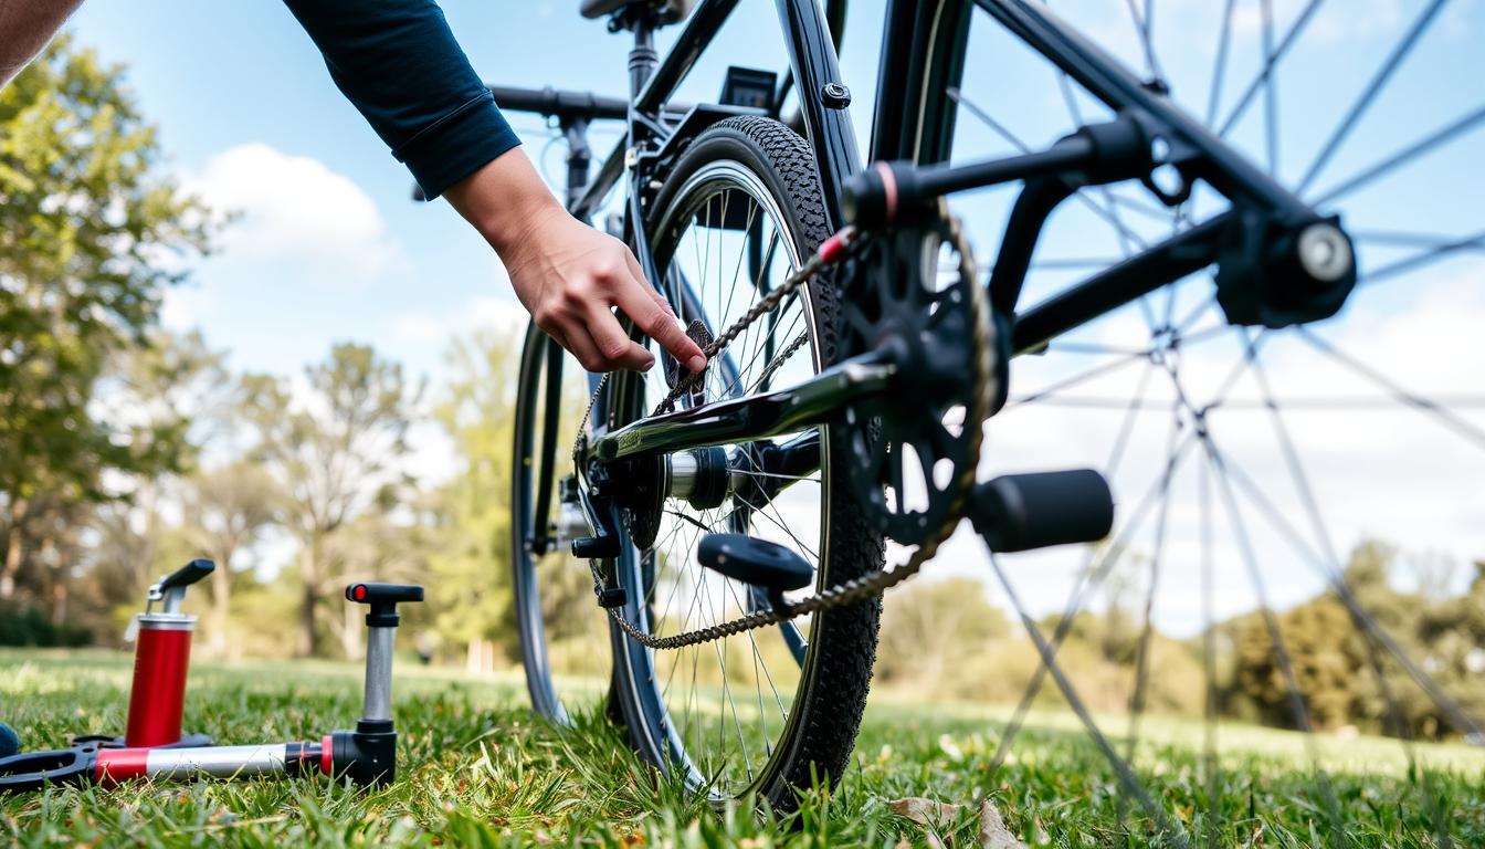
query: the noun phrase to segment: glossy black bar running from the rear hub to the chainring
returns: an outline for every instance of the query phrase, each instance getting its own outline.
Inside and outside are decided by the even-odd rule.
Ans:
[[[676,410],[600,436],[600,462],[653,452],[744,443],[826,424],[845,407],[887,391],[895,367],[867,352],[832,366],[809,381],[762,396]]]

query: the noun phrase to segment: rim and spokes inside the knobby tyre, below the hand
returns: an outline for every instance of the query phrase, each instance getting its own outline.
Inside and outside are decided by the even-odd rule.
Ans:
[[[716,161],[692,174],[676,193],[677,202],[667,210],[656,227],[656,263],[662,269],[680,268],[689,290],[679,302],[691,320],[698,312],[716,333],[735,321],[766,288],[762,280],[777,285],[799,266],[800,257],[793,233],[780,229],[784,214],[766,186],[744,165]],[[745,213],[738,211],[745,205]],[[741,219],[747,232],[757,225],[763,247],[756,251],[762,275],[751,275],[745,256],[747,239],[717,226],[723,219]],[[662,271],[667,274],[667,271]],[[708,372],[705,400],[737,397],[760,388],[760,378],[769,363],[780,360],[787,342],[800,333],[806,342],[772,372],[762,385],[781,388],[820,369],[817,333],[811,311],[811,294],[784,303],[780,323],[766,330],[760,320],[732,342],[728,352],[714,360]],[[659,354],[652,345],[652,351]],[[631,378],[624,396],[634,404],[634,415],[647,415],[667,393],[662,369]],[[682,400],[679,406],[688,406]],[[775,443],[789,439],[777,437]],[[826,437],[829,439],[829,437]],[[829,443],[827,443],[829,445]],[[729,453],[737,446],[728,446]],[[708,572],[695,562],[695,541],[702,532],[747,532],[771,538],[803,555],[821,580],[820,555],[827,550],[824,510],[829,504],[829,468],[811,480],[793,482],[781,497],[756,504],[760,510],[744,509],[729,497],[717,509],[695,510],[674,498],[665,510],[683,514],[667,516],[655,543],[655,552],[674,568],[661,568],[647,593],[649,608],[637,604],[630,611],[650,623],[655,633],[676,633],[725,619],[735,619],[750,610],[754,601],[745,584]],[[805,532],[790,529],[792,520],[812,522]],[[698,526],[704,525],[705,531]],[[631,549],[633,552],[633,549]],[[639,556],[631,555],[634,572],[630,586],[643,586]],[[757,791],[778,766],[783,752],[777,740],[793,726],[792,706],[811,675],[812,654],[803,659],[792,651],[797,642],[808,642],[809,619],[760,629],[722,641],[707,642],[679,651],[649,651],[628,642],[627,654],[636,687],[636,702],[642,708],[644,733],[653,749],[683,781],[708,792],[714,800],[735,798]]]

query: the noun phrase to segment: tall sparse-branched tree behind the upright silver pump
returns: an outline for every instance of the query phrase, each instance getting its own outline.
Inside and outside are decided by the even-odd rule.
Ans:
[[[244,378],[244,413],[257,433],[252,455],[266,464],[290,509],[300,546],[298,653],[319,648],[316,616],[331,589],[331,537],[367,509],[389,510],[410,479],[399,461],[422,387],[367,345],[339,343],[304,369],[307,396],[296,401],[278,378]]]

